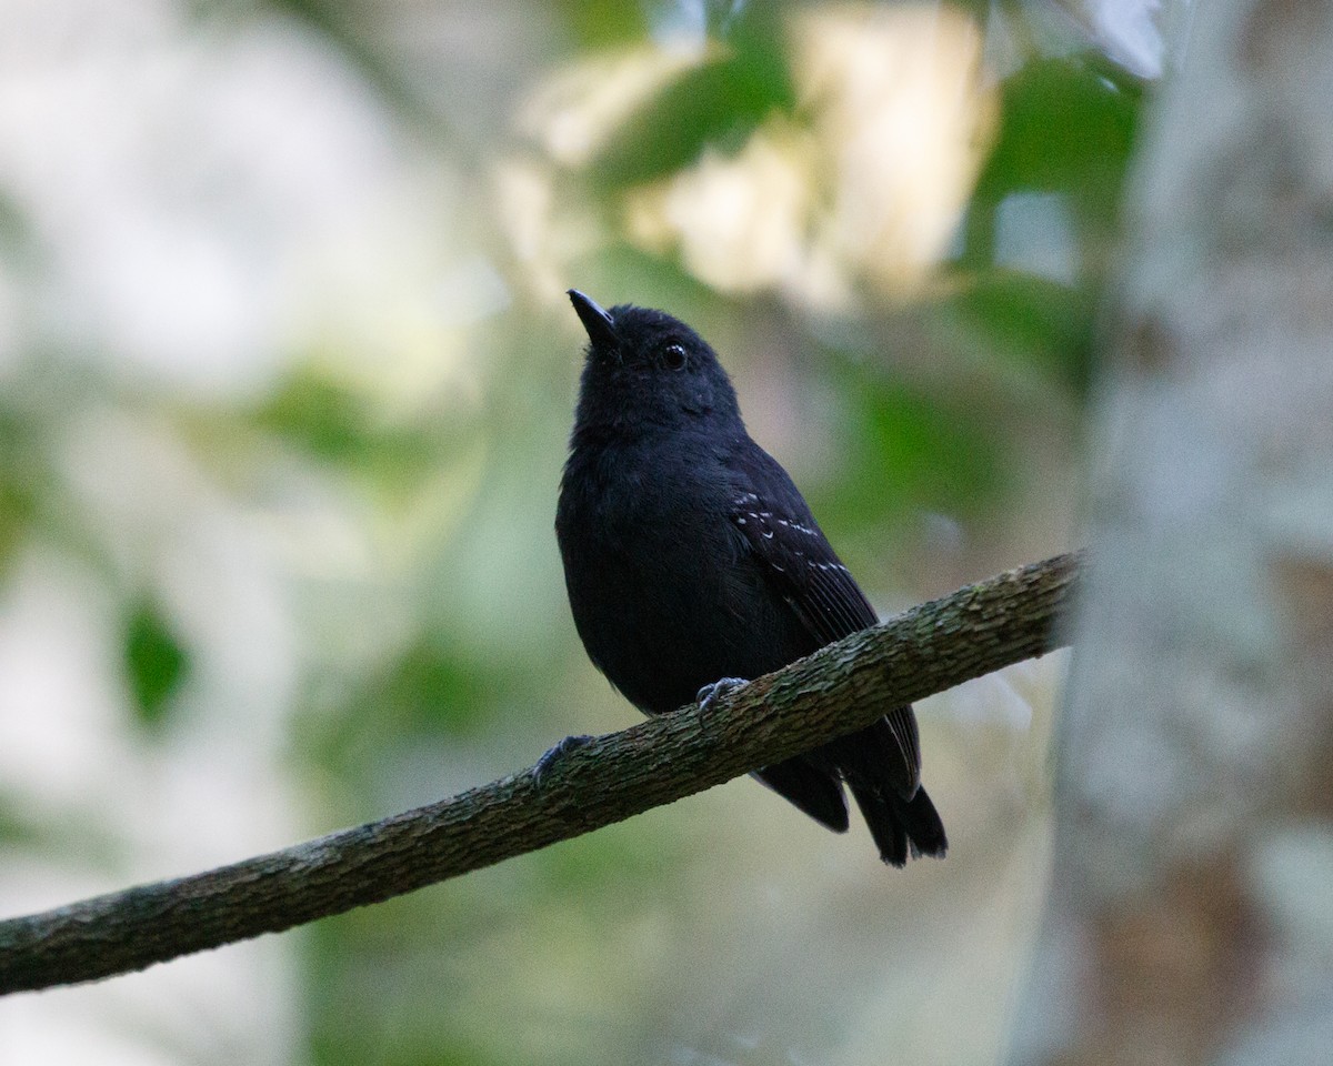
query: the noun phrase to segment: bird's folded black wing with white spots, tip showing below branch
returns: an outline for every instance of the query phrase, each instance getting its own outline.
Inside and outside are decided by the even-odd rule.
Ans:
[[[730,520],[764,576],[801,620],[818,646],[874,625],[878,616],[837,557],[786,472],[754,445],[737,473]],[[880,757],[901,762],[897,778],[905,797],[921,782],[921,745],[912,708],[885,716],[889,736],[868,730],[884,742]],[[892,764],[889,764],[892,765]]]

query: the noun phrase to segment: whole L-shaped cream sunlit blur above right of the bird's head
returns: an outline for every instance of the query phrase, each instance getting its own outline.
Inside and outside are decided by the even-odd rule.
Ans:
[[[764,123],[734,156],[632,196],[627,228],[724,292],[809,306],[918,288],[949,247],[997,113],[982,35],[942,8],[800,15],[792,67],[808,127]]]

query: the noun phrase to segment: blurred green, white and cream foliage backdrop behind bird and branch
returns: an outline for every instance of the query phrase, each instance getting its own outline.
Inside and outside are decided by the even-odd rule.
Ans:
[[[552,533],[581,328],[732,370],[881,613],[1077,542],[1184,4],[0,0],[0,911],[635,720]],[[5,1063],[994,1061],[1062,660],[925,701],[945,862],[737,781],[0,1002]]]

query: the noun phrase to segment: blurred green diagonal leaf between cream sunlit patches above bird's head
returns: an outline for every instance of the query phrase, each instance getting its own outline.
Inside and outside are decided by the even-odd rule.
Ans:
[[[593,161],[595,183],[637,185],[688,167],[705,148],[737,152],[769,115],[794,105],[776,21],[749,20],[721,48],[617,131]]]

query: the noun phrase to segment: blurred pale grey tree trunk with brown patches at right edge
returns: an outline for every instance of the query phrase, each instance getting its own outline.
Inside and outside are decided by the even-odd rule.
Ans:
[[[1130,188],[1014,1063],[1333,1062],[1333,3],[1194,9]]]

